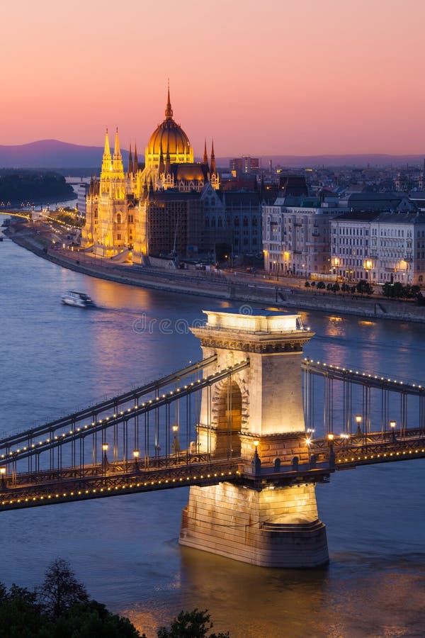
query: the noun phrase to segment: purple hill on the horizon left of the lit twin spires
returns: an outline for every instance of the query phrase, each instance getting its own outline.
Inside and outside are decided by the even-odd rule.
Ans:
[[[103,147],[69,144],[59,140],[40,140],[19,146],[0,146],[0,168],[78,168],[98,167]],[[128,152],[123,150],[127,162]]]

